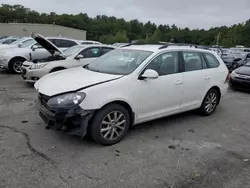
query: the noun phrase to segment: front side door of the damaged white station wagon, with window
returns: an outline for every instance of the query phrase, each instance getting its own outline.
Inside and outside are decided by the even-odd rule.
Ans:
[[[180,111],[183,77],[178,52],[157,55],[142,71],[153,69],[157,79],[138,79],[138,121],[156,119]]]

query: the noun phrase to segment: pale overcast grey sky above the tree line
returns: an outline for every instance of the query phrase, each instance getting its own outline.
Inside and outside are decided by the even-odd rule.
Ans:
[[[2,3],[22,4],[40,13],[105,14],[191,29],[230,26],[250,19],[250,0],[0,0]]]

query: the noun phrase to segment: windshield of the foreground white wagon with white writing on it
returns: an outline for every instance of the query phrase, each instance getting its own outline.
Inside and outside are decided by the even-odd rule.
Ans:
[[[133,72],[153,52],[129,49],[116,49],[101,56],[86,68],[91,71],[127,75]]]

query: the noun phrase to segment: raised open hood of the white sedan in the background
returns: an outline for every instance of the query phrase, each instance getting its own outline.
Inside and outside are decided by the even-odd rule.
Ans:
[[[65,56],[64,53],[59,48],[56,47],[56,45],[54,45],[52,42],[44,38],[42,35],[33,32],[31,34],[31,37],[37,43],[39,43],[43,48],[45,48],[49,53],[51,53],[51,55],[55,55],[56,53],[58,53],[58,55],[61,54]]]

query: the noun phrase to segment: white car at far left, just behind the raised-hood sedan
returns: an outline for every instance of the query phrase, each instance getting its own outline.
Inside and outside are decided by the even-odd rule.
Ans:
[[[46,37],[33,33],[34,40],[25,42],[19,48],[0,50],[0,68],[9,70],[12,73],[21,73],[21,66],[24,61],[41,60],[51,56],[53,50],[49,53],[45,50],[41,42],[50,41],[60,50],[65,50],[71,46],[80,44],[78,40],[67,39],[63,37]]]

